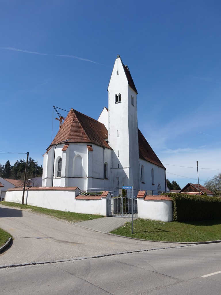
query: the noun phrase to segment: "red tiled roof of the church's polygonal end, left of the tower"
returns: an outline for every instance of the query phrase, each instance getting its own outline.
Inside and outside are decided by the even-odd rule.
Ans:
[[[94,143],[104,148],[110,148],[105,141],[107,137],[108,131],[104,124],[71,109],[50,146],[70,139],[69,143]]]

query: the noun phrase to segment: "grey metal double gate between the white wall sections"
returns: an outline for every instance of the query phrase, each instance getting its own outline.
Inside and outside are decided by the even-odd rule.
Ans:
[[[132,203],[133,202],[133,203]],[[108,216],[137,217],[137,198],[131,196],[113,196],[108,200]]]

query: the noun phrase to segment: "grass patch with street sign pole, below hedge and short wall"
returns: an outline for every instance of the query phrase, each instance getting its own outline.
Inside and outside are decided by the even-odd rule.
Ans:
[[[221,240],[221,219],[193,222],[162,222],[135,219],[111,231],[112,234],[137,239],[166,242],[206,242]]]

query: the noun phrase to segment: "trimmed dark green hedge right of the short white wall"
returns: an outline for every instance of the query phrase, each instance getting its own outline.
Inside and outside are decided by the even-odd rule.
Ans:
[[[173,220],[221,219],[221,198],[188,194],[167,194],[172,199]]]

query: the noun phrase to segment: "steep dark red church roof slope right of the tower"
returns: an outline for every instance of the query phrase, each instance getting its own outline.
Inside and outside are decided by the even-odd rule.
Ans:
[[[139,129],[138,129],[138,141],[139,141],[139,157],[143,160],[146,160],[155,165],[158,165],[159,167],[165,168]]]

